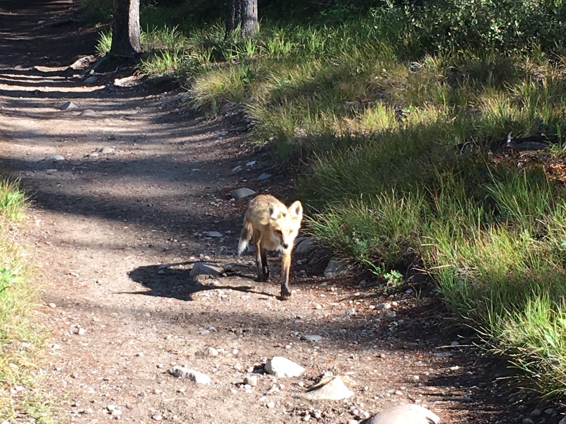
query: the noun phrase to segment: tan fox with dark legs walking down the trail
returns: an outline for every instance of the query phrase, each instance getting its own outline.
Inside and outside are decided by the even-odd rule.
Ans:
[[[267,251],[281,252],[281,297],[286,298],[289,292],[289,270],[291,268],[291,251],[295,238],[301,228],[303,205],[295,201],[285,206],[271,194],[260,194],[248,205],[244,215],[244,225],[238,244],[238,255],[246,250],[248,241],[253,239],[255,262],[258,267],[258,279],[267,281]]]

